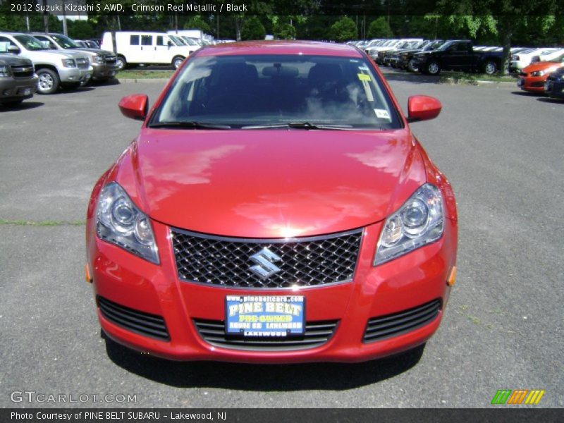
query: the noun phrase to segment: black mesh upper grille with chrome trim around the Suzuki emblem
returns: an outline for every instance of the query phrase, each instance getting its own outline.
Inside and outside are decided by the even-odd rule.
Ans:
[[[291,239],[223,238],[176,228],[171,235],[178,277],[184,281],[236,288],[290,288],[351,281],[362,230]],[[257,262],[250,258],[264,248],[279,258],[273,262],[278,271],[266,277],[251,270]]]

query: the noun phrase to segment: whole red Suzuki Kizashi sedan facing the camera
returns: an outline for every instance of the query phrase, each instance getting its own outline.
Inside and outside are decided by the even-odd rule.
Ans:
[[[87,281],[109,338],[171,360],[359,362],[424,344],[455,283],[453,190],[369,57],[202,47],[98,180]]]

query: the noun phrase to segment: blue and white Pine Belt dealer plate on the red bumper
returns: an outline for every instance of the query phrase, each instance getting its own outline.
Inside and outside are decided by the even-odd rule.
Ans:
[[[227,295],[226,335],[286,338],[305,332],[303,295]]]

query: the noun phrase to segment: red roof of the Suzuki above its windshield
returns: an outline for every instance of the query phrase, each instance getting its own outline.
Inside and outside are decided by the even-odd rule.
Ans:
[[[347,44],[312,41],[245,41],[202,47],[197,56],[233,56],[238,54],[308,54],[319,56],[362,57]]]

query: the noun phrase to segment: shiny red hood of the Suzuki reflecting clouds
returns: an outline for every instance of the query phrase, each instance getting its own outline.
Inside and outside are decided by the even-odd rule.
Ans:
[[[407,129],[144,129],[113,178],[170,226],[286,238],[381,221],[426,173]]]

